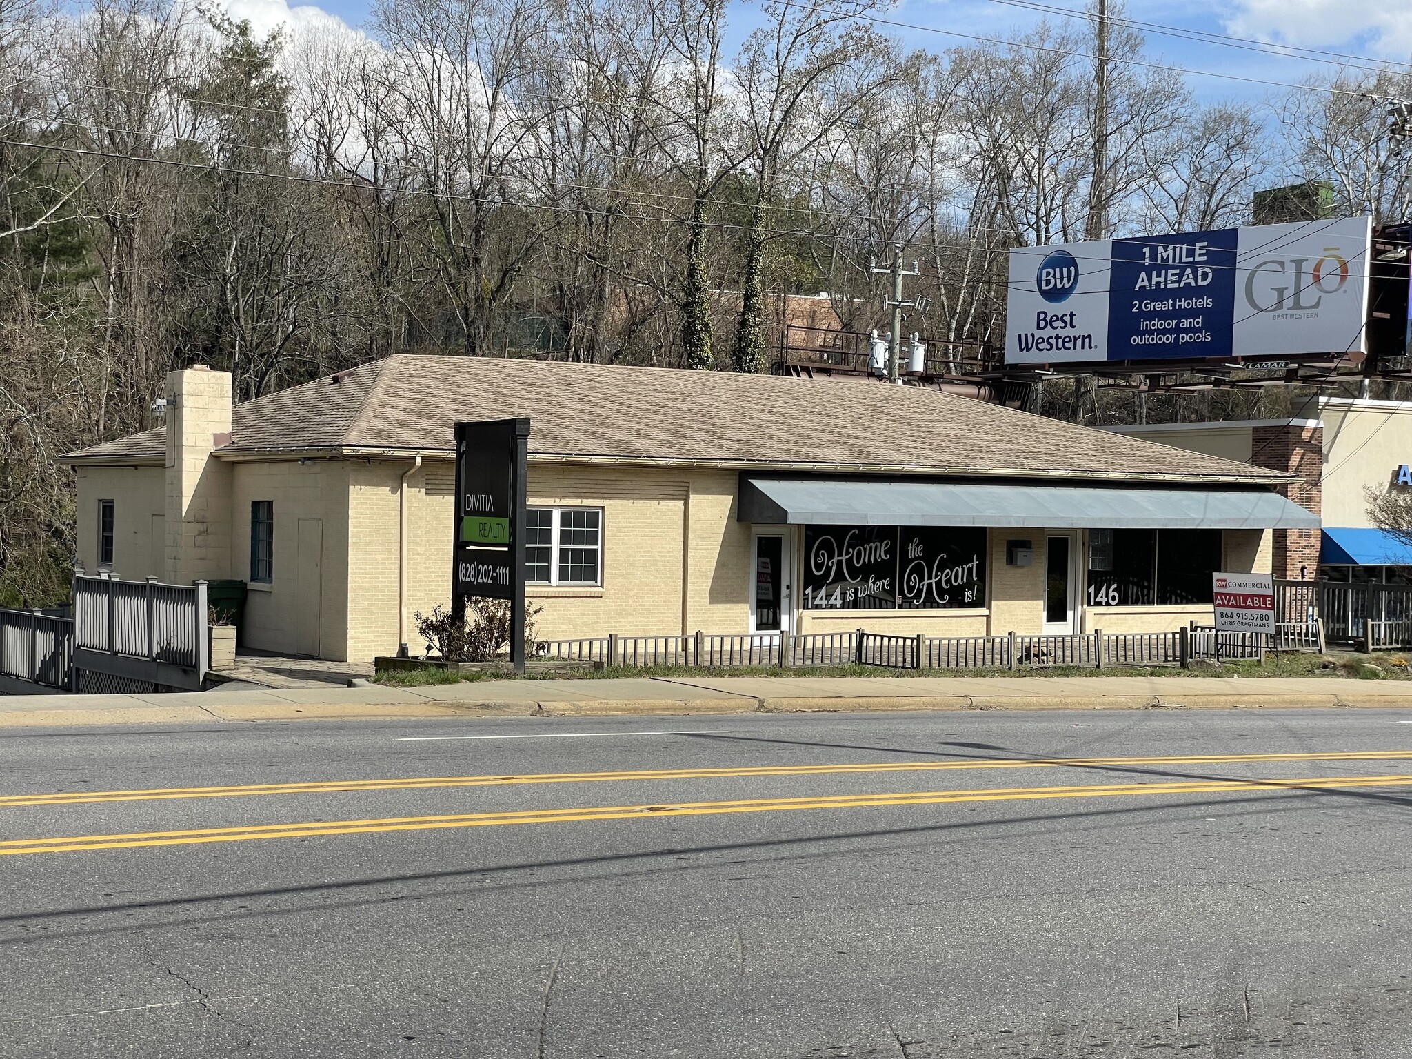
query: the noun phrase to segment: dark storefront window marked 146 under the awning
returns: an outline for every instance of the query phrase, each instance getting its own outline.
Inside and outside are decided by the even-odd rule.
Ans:
[[[1090,607],[1190,606],[1211,602],[1221,566],[1220,530],[1090,530]]]

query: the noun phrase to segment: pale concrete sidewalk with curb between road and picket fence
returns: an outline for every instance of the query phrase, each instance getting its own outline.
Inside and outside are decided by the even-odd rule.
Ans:
[[[1412,706],[1412,683],[1228,676],[634,678],[0,698],[0,727],[329,717]]]

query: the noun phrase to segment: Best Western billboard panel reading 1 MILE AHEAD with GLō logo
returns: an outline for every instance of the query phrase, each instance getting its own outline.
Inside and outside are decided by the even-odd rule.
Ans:
[[[1010,251],[1007,364],[1365,353],[1370,217]]]

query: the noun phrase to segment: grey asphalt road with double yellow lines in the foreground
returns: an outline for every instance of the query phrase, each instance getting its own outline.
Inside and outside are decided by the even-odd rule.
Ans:
[[[1412,710],[24,730],[0,1056],[1396,1059],[1409,825]]]

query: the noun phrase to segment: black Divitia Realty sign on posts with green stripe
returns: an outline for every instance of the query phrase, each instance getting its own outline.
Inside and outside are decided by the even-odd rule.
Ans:
[[[510,600],[510,661],[524,669],[528,419],[456,424],[452,607],[467,596]]]

